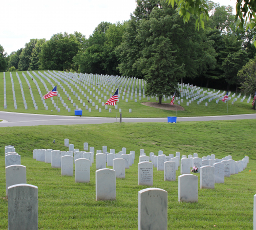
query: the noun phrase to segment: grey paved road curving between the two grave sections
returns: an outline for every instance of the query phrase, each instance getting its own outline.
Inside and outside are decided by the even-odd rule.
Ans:
[[[77,125],[77,124],[101,124],[116,122],[116,118],[96,118],[96,117],[71,117],[55,116],[44,114],[29,114],[18,112],[0,111],[0,127],[11,126],[34,126],[34,125]],[[183,121],[221,121],[221,120],[241,120],[256,119],[254,114],[241,114],[230,116],[211,116],[211,117],[190,117],[177,118],[177,122]],[[119,122],[119,118],[117,118]],[[167,122],[167,118],[122,118],[122,122]]]

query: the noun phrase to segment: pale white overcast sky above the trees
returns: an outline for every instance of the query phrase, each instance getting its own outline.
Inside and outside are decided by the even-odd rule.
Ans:
[[[214,0],[236,5],[236,0]],[[81,32],[88,38],[101,21],[129,20],[135,0],[8,0],[1,1],[0,44],[10,54],[25,47],[31,38]]]

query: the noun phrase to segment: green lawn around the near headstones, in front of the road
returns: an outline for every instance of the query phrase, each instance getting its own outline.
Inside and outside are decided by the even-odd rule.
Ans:
[[[140,149],[146,155],[163,150],[166,155],[177,151],[182,155],[197,152],[199,157],[232,155],[234,160],[249,156],[247,168],[226,177],[224,185],[199,189],[198,203],[178,202],[180,168],[176,181],[164,181],[163,171],[154,168],[153,187],[168,192],[168,229],[252,229],[255,125],[256,120],[232,120],[0,128],[0,228],[8,228],[4,146],[14,145],[27,167],[27,183],[38,187],[39,229],[138,229],[138,191],[148,188],[138,186]],[[116,152],[122,147],[126,152],[135,151],[134,165],[125,170],[125,179],[116,179],[115,201],[95,201],[95,163],[90,183],[75,183],[74,177],[61,176],[60,169],[32,159],[33,149],[68,150],[65,138],[80,150],[83,142],[88,142],[95,152],[103,145]],[[200,174],[196,175],[200,185]]]

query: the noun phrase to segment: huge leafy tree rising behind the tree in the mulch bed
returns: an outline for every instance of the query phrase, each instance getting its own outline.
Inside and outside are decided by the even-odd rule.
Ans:
[[[195,32],[192,22],[184,24],[176,11],[159,1],[161,7],[154,7],[147,19],[132,17],[123,35],[123,42],[116,49],[120,73],[127,76],[143,77],[144,53],[152,49],[156,38],[168,38],[170,48],[178,66],[184,66],[180,78],[194,78],[216,65],[213,41],[207,39],[203,30]]]

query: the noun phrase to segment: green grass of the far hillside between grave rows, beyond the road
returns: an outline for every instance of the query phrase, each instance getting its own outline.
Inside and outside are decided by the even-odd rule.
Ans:
[[[10,112],[25,112],[25,113],[39,113],[39,114],[59,114],[59,115],[67,115],[67,116],[74,116],[74,109],[73,105],[71,105],[71,102],[68,100],[66,95],[63,93],[63,91],[58,88],[59,94],[64,100],[64,102],[71,108],[71,112],[68,112],[62,104],[61,101],[58,101],[58,106],[60,108],[60,112],[57,112],[57,110],[53,107],[53,104],[49,99],[46,99],[46,103],[48,105],[48,110],[45,110],[42,101],[39,97],[37,88],[35,86],[35,83],[32,81],[32,79],[28,76],[26,72],[24,72],[25,75],[27,76],[31,88],[33,90],[34,98],[38,106],[38,110],[35,110],[33,107],[33,102],[32,98],[29,93],[29,87],[27,85],[27,82],[25,81],[25,78],[22,76],[22,72],[18,72],[19,77],[23,83],[23,88],[24,88],[24,94],[25,98],[27,101],[28,109],[25,110],[25,107],[23,105],[23,100],[22,100],[22,94],[20,91],[20,86],[18,83],[18,79],[16,77],[16,73],[12,72],[13,80],[14,80],[14,87],[15,87],[15,93],[16,93],[16,101],[17,101],[17,109],[14,109],[14,104],[13,104],[13,96],[12,96],[12,85],[11,85],[11,80],[10,80],[10,73],[6,73],[6,93],[7,93],[7,109],[4,109],[4,104],[3,106],[0,107],[0,111],[10,111]],[[30,72],[32,74],[32,72]],[[37,72],[36,72],[37,73]],[[41,71],[41,73],[44,73],[44,71]],[[32,74],[33,75],[33,74]],[[39,75],[39,74],[38,74]],[[33,77],[35,77],[33,75]],[[3,73],[0,73],[0,79],[3,78]],[[41,77],[42,78],[42,77]],[[44,95],[47,93],[45,87],[42,85],[42,83],[39,81],[38,78],[36,78],[36,81],[41,89],[41,93]],[[42,78],[45,83],[47,84],[49,90],[52,89],[52,86],[44,79]],[[53,81],[53,80],[52,80]],[[53,83],[56,85],[56,83],[53,81]],[[63,85],[63,84],[62,84]],[[64,85],[63,85],[64,86]],[[116,117],[116,110],[114,109],[114,106],[108,106],[108,108],[112,108],[113,112],[109,112],[109,109],[105,109],[104,106],[101,106],[101,103],[98,103],[98,101],[95,100],[95,98],[92,98],[90,94],[87,92],[86,89],[82,89],[84,93],[87,94],[87,96],[90,96],[90,99],[92,99],[93,102],[95,102],[95,105],[98,105],[98,108],[101,108],[102,112],[98,112],[98,110],[95,109],[95,107],[92,106],[92,104],[88,103],[86,98],[83,97],[81,93],[79,93],[79,90],[75,89],[75,86],[73,86],[73,89],[76,91],[78,96],[80,96],[80,99],[83,99],[83,102],[86,102],[86,105],[89,106],[89,108],[92,109],[92,112],[88,112],[88,110],[85,109],[85,107],[78,102],[77,98],[73,96],[73,93],[71,93],[71,90],[65,85],[64,88],[67,90],[68,94],[71,96],[71,99],[76,102],[76,105],[79,105],[79,107],[83,110],[83,116],[87,117]],[[90,88],[93,93],[95,91]],[[206,88],[203,88],[204,90]],[[212,90],[212,89],[210,89]],[[103,91],[101,90],[101,93]],[[231,92],[233,94],[234,92]],[[98,96],[98,99],[101,99],[101,102],[105,102],[104,98],[101,98],[98,94],[95,94]],[[121,94],[122,95],[122,94]],[[104,93],[104,96],[109,99],[109,96]],[[131,95],[130,95],[131,96]],[[237,95],[236,95],[237,97]],[[241,96],[241,98],[243,95]],[[126,98],[126,96],[124,97]],[[241,99],[240,98],[240,99]],[[135,97],[133,97],[133,100],[131,101],[129,98],[129,102],[125,102],[125,100],[119,100],[118,103],[118,108],[122,109],[122,117],[141,117],[141,118],[154,118],[154,117],[168,117],[168,116],[176,116],[175,111],[169,111],[169,110],[163,110],[163,109],[157,109],[149,106],[142,105],[141,102],[148,102],[147,98],[142,98],[141,101],[139,101],[139,97],[137,97],[137,103],[134,102]],[[232,98],[233,99],[233,98]],[[250,103],[247,103],[248,96],[244,100],[244,102],[240,102],[240,99],[238,99],[237,102],[234,102],[234,105],[231,105],[231,102],[229,101],[228,103],[228,113],[227,113],[227,104],[223,103],[220,101],[218,104],[216,104],[216,100],[213,100],[212,102],[208,103],[208,106],[205,106],[205,102],[208,102],[208,100],[204,100],[200,105],[197,104],[197,101],[192,102],[189,106],[186,106],[186,102],[188,100],[183,97],[183,103],[181,103],[181,106],[184,107],[184,111],[177,111],[177,117],[195,117],[195,116],[222,116],[222,115],[231,115],[231,114],[247,114],[247,113],[255,113],[255,110],[252,110],[251,107],[251,102],[252,99],[250,100]],[[0,84],[0,100],[4,102],[4,86],[3,84]],[[54,100],[56,102],[56,97],[54,97]],[[156,99],[150,99],[150,102],[156,102]],[[170,103],[170,100],[167,100],[166,102],[163,103]],[[129,112],[129,109],[132,109],[132,113]],[[53,111],[51,111],[53,110]],[[117,115],[119,117],[119,113]]]

